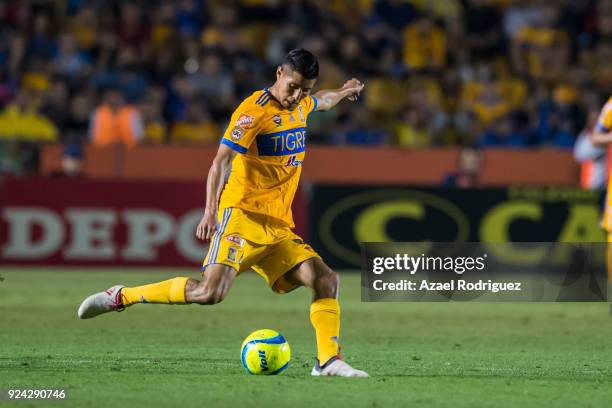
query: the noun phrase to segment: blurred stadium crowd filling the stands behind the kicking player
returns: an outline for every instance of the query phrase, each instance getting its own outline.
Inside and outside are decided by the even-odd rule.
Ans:
[[[311,143],[571,148],[612,93],[612,0],[0,0],[0,170],[215,144],[296,47],[318,88],[366,83]]]

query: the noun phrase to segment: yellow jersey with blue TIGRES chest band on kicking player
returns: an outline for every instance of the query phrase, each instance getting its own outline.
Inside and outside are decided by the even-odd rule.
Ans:
[[[221,143],[238,154],[221,195],[221,208],[265,214],[293,228],[291,203],[306,154],[306,123],[317,109],[314,96],[284,109],[267,88],[234,111]]]

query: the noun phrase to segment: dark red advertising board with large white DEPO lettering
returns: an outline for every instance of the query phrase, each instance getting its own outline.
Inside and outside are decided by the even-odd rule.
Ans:
[[[204,194],[203,182],[4,180],[0,265],[198,265]],[[294,211],[303,225],[299,194]]]

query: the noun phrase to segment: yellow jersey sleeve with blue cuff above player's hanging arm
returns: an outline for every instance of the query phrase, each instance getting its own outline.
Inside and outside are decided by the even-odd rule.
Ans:
[[[264,111],[259,106],[243,102],[232,114],[221,144],[231,147],[238,153],[246,153],[260,133],[263,115]]]

